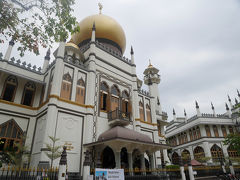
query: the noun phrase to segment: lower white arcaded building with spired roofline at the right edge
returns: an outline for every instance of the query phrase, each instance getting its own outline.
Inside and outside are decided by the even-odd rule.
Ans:
[[[238,91],[240,100],[240,93]],[[173,120],[166,126],[167,144],[172,146],[170,159],[173,164],[179,164],[180,158],[185,161],[198,160],[209,165],[219,164],[231,159],[233,163],[239,160],[239,153],[223,141],[228,134],[239,131],[240,103],[235,98],[235,104],[228,96],[226,113],[216,114],[211,103],[212,113],[201,113],[196,102],[196,115],[188,118],[184,110],[184,117],[176,117],[173,109]],[[186,159],[187,158],[187,159]],[[184,160],[184,159],[183,159]]]

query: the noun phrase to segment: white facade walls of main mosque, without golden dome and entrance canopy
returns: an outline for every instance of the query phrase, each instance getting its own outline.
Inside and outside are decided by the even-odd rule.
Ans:
[[[26,163],[30,163],[30,166],[37,167],[39,163],[49,161],[45,154],[46,143],[51,143],[49,136],[53,136],[60,139],[56,145],[67,146],[68,171],[82,173],[84,152],[86,149],[93,150],[98,147],[85,145],[97,143],[98,137],[112,128],[109,122],[110,111],[108,109],[107,112],[106,107],[102,109],[101,105],[104,101],[101,99],[103,82],[109,89],[117,87],[120,92],[120,96],[115,97],[118,98],[118,105],[115,105],[121,112],[124,111],[124,116],[130,114],[129,123],[124,126],[147,135],[156,145],[149,149],[150,146],[141,144],[139,140],[138,145],[122,145],[117,148],[114,141],[106,143],[114,151],[115,167],[121,166],[121,157],[118,156],[124,147],[130,155],[137,149],[142,157],[145,156],[149,161],[151,168],[162,164],[161,156],[165,162],[169,162],[163,131],[167,124],[167,115],[162,112],[159,103],[157,87],[160,77],[156,68],[154,77],[148,76],[151,67],[146,69],[145,81],[148,78],[155,81],[149,84],[149,93],[142,91],[142,82],[136,76],[133,52],[131,60],[116,55],[111,48],[96,41],[95,30],[91,40],[83,47],[60,43],[51,64],[47,54],[43,68],[38,70],[34,66],[16,61],[11,54],[12,48],[13,43],[10,43],[4,58],[0,57],[0,138],[5,139],[6,143],[19,140],[19,137],[13,135],[15,130],[12,130],[11,134],[14,137],[7,137],[8,132],[5,132],[4,128],[12,126],[18,128],[19,135],[25,133],[26,145],[31,153],[31,162]],[[159,81],[156,81],[157,79]],[[27,82],[34,84],[31,92],[27,91]],[[128,94],[125,106],[123,92]],[[31,102],[27,101],[29,98]],[[111,99],[114,100],[114,95],[111,95]],[[139,102],[143,104],[142,119]],[[112,107],[113,102],[109,106]],[[131,110],[128,110],[127,107],[130,106]],[[6,143],[1,148],[9,146]],[[105,146],[101,144],[97,151],[101,153]],[[129,161],[130,159],[132,157]],[[58,163],[59,159],[54,160],[54,166],[58,166]],[[128,166],[134,168],[130,167],[130,164]]]

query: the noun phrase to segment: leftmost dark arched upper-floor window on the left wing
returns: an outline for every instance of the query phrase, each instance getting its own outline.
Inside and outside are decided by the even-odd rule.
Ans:
[[[5,81],[3,91],[2,91],[2,99],[5,101],[14,101],[16,89],[17,89],[17,78],[15,76],[8,76]]]

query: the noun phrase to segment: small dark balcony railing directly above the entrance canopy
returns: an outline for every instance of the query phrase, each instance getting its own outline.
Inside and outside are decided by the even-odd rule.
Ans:
[[[116,109],[114,111],[111,111],[108,113],[108,122],[112,126],[126,126],[129,125],[131,121],[130,113],[124,112],[119,109]]]

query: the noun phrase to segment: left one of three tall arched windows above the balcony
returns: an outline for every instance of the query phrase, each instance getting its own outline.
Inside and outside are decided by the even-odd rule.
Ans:
[[[100,109],[108,111],[110,107],[109,88],[105,82],[101,82],[100,86]]]

